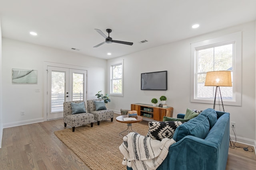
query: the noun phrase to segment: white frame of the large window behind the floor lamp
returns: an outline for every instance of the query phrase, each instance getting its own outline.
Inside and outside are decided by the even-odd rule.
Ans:
[[[233,59],[233,99],[222,99],[224,105],[242,106],[242,32],[230,33],[222,37],[191,43],[191,86],[190,101],[197,103],[213,104],[212,98],[197,98],[196,88],[196,69],[198,65],[197,50],[204,47],[214,46],[225,42],[234,42],[234,59]]]

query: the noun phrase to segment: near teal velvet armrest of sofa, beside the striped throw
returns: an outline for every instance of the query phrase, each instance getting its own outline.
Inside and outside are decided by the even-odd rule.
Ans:
[[[168,155],[157,170],[217,170],[217,145],[194,136],[186,136],[169,147]]]

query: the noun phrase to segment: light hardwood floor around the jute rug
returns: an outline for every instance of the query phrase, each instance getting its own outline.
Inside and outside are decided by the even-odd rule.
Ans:
[[[142,123],[148,124],[146,121]],[[0,169],[90,170],[54,135],[54,131],[61,129],[64,129],[63,119],[3,129]],[[239,143],[236,146],[248,147]],[[229,149],[226,170],[254,170],[255,167],[255,151]]]

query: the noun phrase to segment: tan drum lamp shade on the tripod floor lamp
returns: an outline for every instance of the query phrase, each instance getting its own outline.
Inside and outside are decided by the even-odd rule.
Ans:
[[[232,86],[230,71],[210,71],[206,73],[204,86]]]

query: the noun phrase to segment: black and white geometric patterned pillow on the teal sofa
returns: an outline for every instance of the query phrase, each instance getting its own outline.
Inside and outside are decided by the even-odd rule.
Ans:
[[[164,138],[172,139],[175,129],[180,126],[181,121],[152,121],[148,122],[148,137],[162,141]]]

